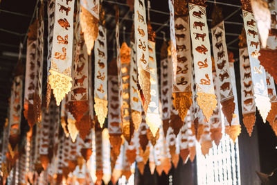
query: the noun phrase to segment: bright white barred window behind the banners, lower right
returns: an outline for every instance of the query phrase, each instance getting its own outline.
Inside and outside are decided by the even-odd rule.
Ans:
[[[222,130],[225,130],[224,124]],[[196,150],[198,185],[240,185],[238,139],[234,144],[232,139],[223,133],[220,145],[217,147],[213,142],[213,148],[206,158],[202,155],[199,143]]]

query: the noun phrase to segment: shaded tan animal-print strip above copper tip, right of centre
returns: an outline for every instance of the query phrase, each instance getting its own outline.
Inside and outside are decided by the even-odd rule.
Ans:
[[[177,49],[177,69],[173,69],[173,92],[191,92],[191,49],[190,25],[188,17],[175,17],[175,42]],[[172,53],[171,53],[172,54]]]

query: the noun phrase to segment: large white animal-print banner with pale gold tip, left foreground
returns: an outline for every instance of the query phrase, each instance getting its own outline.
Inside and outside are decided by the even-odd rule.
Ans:
[[[71,89],[74,0],[55,1],[51,67],[48,76],[57,105]]]

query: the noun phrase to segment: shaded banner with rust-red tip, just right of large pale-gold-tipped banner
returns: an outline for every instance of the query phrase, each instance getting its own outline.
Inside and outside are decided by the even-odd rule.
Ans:
[[[76,51],[73,62],[73,86],[69,93],[68,109],[75,118],[75,126],[80,137],[85,139],[91,128],[89,118],[89,55],[84,37],[80,32],[80,24],[76,24]]]

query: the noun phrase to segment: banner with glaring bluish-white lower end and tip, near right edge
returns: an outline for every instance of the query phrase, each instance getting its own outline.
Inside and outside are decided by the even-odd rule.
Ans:
[[[260,55],[260,41],[256,21],[251,12],[242,10],[244,28],[247,34],[247,47],[249,52],[251,76],[254,86],[254,96],[256,107],[258,108],[263,121],[271,109],[270,99],[267,93],[267,82],[265,69],[260,65],[258,56]]]

